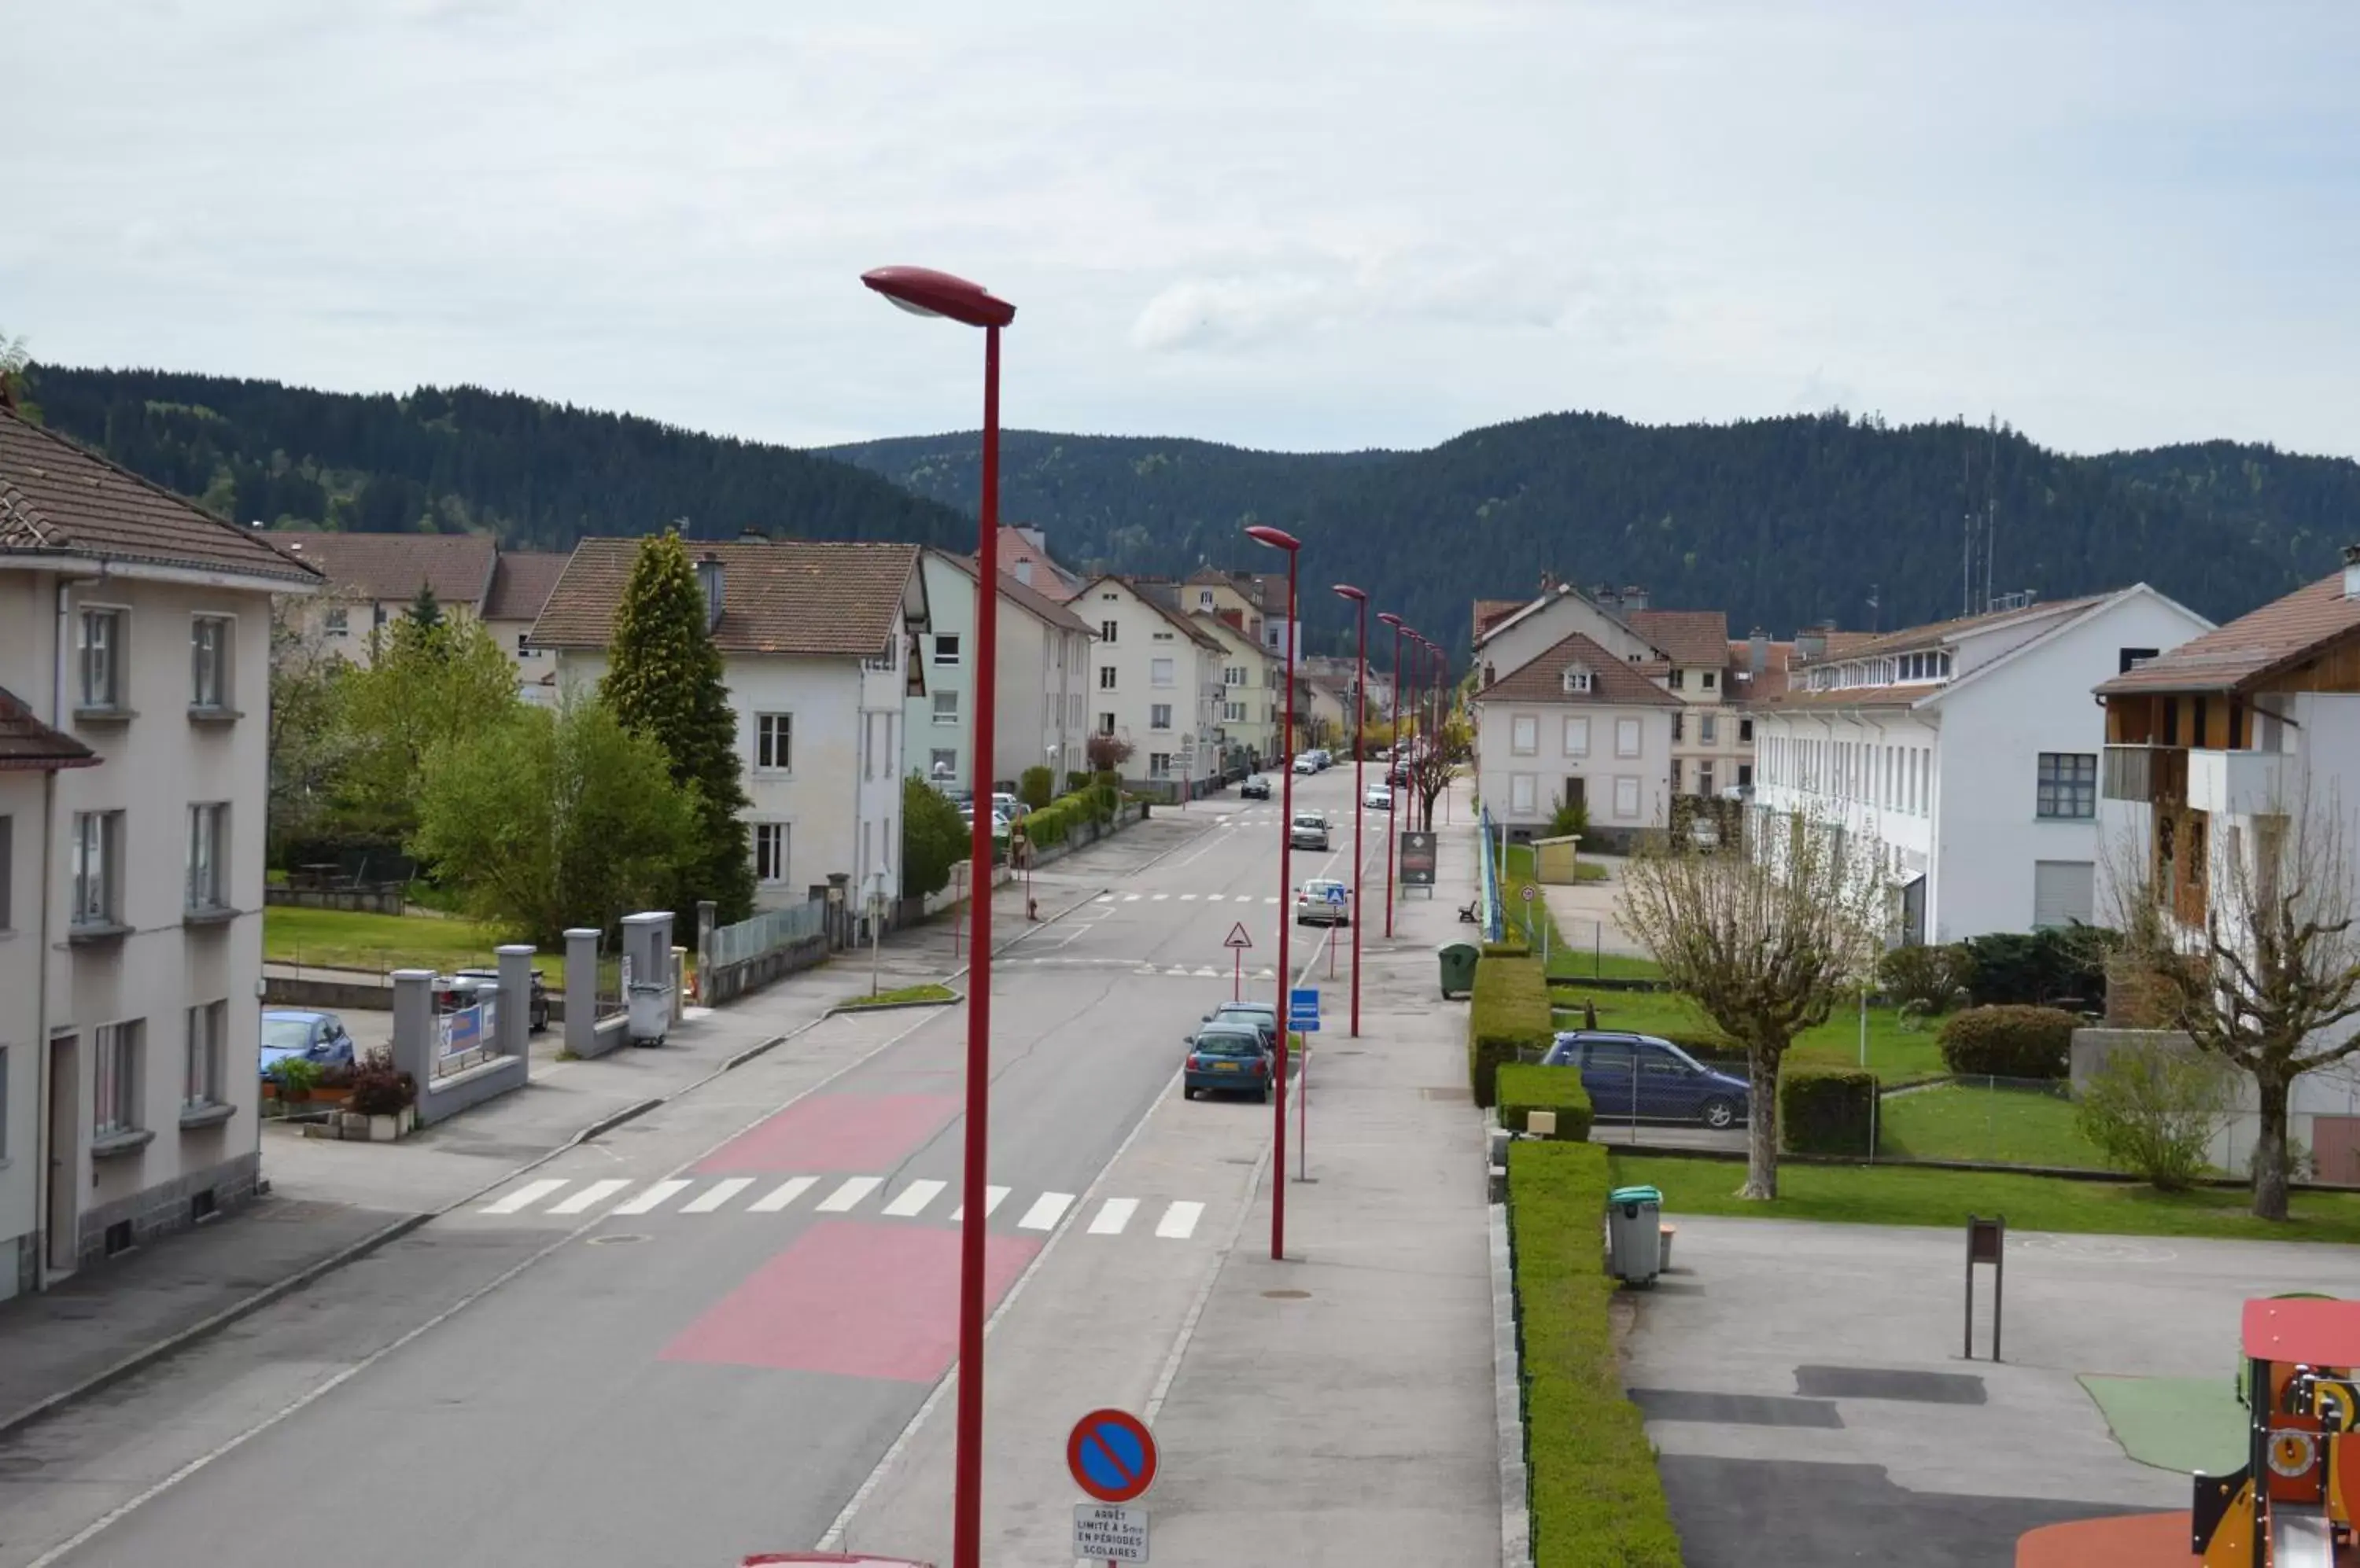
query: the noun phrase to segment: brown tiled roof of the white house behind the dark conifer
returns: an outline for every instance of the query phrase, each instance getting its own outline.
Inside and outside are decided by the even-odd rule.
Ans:
[[[533,622],[536,648],[604,648],[642,540],[583,540]],[[684,540],[722,564],[722,653],[873,658],[902,627],[916,545]]]

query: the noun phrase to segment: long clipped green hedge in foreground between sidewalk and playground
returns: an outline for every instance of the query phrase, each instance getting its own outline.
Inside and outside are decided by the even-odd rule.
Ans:
[[[1680,1568],[1680,1535],[1614,1361],[1595,1144],[1508,1146],[1534,1568]]]

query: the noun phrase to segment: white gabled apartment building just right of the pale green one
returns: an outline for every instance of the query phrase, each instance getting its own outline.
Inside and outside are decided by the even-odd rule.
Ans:
[[[1159,585],[1097,578],[1074,608],[1097,627],[1090,651],[1090,733],[1130,743],[1123,778],[1182,797],[1220,780],[1222,658],[1227,646]]]

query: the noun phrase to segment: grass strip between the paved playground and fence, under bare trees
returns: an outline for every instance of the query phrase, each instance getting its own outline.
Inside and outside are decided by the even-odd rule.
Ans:
[[[1664,1188],[1671,1214],[1822,1219],[1874,1226],[1964,1226],[1968,1214],[2006,1214],[2015,1231],[2105,1236],[2221,1236],[2230,1240],[2360,1243],[2360,1193],[2294,1193],[2289,1219],[2254,1219],[2244,1188],[2157,1193],[2136,1181],[2074,1181],[2018,1172],[1902,1165],[1779,1165],[1779,1198],[1735,1198],[1739,1160],[1614,1155],[1614,1181]]]

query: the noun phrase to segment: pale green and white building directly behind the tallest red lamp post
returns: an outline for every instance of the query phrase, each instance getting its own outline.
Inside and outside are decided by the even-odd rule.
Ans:
[[[930,632],[918,648],[925,658],[925,691],[909,698],[902,719],[902,771],[946,790],[975,790],[975,561],[942,549],[923,556]],[[1015,790],[1024,769],[1045,766],[1055,788],[1088,769],[1083,712],[1090,686],[1090,627],[1064,604],[1001,573],[998,665],[991,681],[991,780]]]

